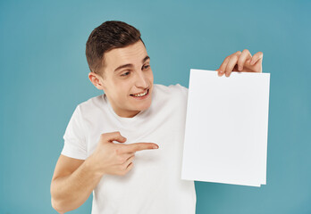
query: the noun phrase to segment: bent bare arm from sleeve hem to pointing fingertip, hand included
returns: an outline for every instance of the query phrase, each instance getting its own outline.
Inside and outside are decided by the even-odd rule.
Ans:
[[[51,202],[56,211],[64,213],[79,208],[105,174],[124,176],[133,168],[135,152],[158,148],[153,143],[113,141],[124,143],[126,138],[120,132],[102,134],[95,152],[85,161],[59,157],[51,182]]]

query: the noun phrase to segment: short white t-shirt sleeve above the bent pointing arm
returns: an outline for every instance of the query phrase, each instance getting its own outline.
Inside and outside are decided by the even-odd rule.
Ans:
[[[63,155],[74,159],[87,159],[87,141],[79,105],[75,111],[73,111],[71,119],[64,133],[63,140]]]

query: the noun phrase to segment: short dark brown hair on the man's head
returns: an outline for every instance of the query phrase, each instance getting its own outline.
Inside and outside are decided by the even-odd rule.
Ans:
[[[132,45],[139,40],[142,41],[139,29],[122,21],[105,21],[88,37],[86,55],[89,70],[99,74],[99,70],[105,66],[106,52],[113,48]]]

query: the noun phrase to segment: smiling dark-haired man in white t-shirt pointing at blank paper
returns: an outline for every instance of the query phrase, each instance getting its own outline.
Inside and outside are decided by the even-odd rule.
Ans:
[[[194,182],[181,180],[188,89],[153,84],[139,30],[122,21],[94,29],[86,55],[88,78],[105,94],[72,114],[51,183],[54,209],[75,210],[94,191],[93,214],[195,213]],[[219,76],[261,72],[262,59],[233,53]]]

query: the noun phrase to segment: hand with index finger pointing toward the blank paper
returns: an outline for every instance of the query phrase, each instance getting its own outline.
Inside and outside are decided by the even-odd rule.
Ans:
[[[114,144],[113,141],[124,143],[126,138],[120,132],[102,134],[96,151],[90,156],[93,169],[100,175],[124,176],[133,168],[135,152],[159,147],[152,143]]]

